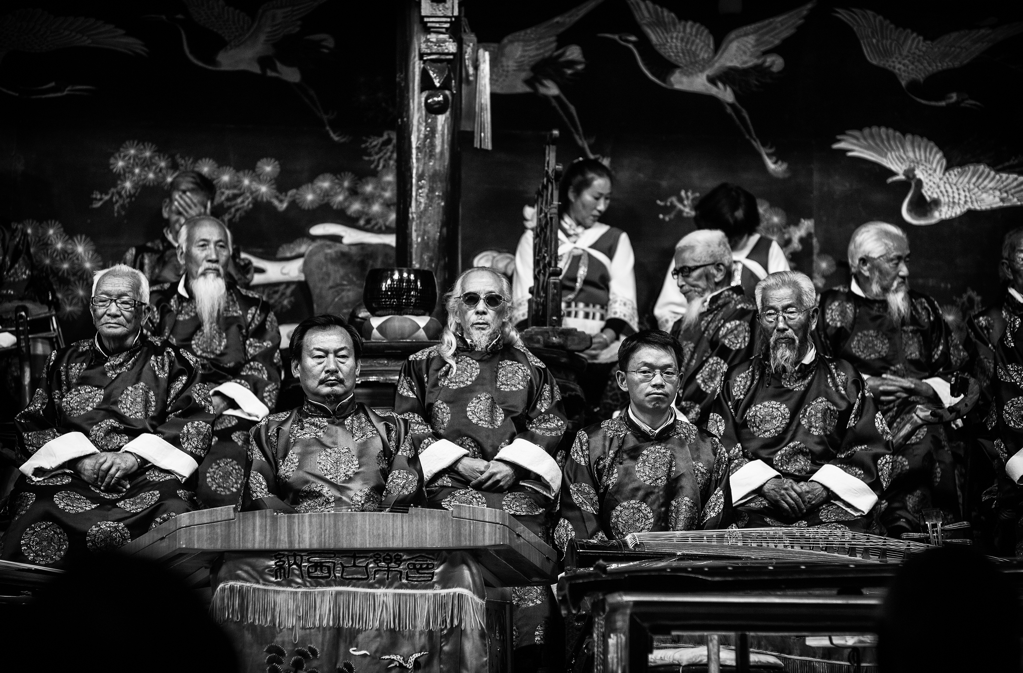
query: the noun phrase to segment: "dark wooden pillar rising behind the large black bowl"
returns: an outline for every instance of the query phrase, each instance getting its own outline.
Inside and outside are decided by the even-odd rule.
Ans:
[[[398,0],[399,266],[430,269],[444,293],[460,267],[458,0]]]

